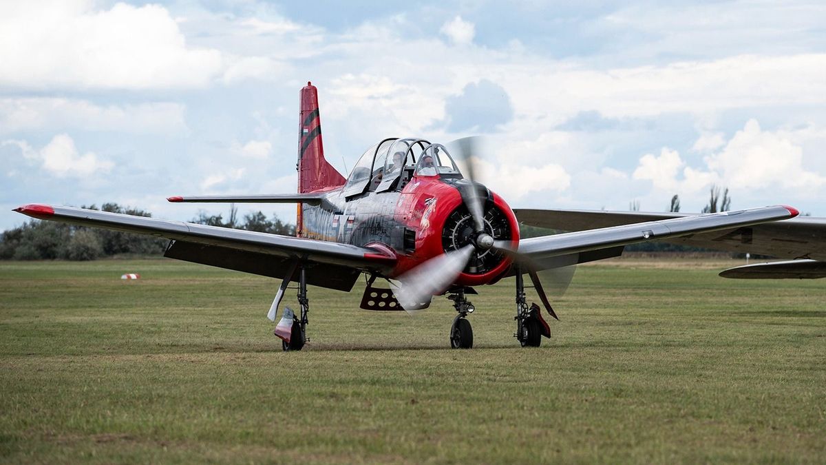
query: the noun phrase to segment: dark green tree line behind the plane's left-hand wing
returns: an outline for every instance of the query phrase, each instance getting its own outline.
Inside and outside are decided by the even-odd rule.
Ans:
[[[95,205],[83,208],[97,210]],[[115,203],[103,204],[99,210],[142,217],[152,216],[145,210],[121,207]],[[227,220],[221,214],[208,215],[199,212],[197,218],[192,219],[192,223],[295,235],[295,226],[282,222],[276,215],[268,218],[259,211],[244,215],[243,220],[239,220],[234,205],[230,208],[230,218]],[[116,255],[158,256],[164,253],[168,242],[167,239],[131,232],[31,219],[18,228],[0,234],[0,260],[83,261]]]

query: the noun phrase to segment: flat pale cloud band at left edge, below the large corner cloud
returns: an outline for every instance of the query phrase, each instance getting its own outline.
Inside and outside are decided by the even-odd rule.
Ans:
[[[77,98],[0,98],[0,133],[68,128],[175,133],[187,130],[180,103],[100,106]]]

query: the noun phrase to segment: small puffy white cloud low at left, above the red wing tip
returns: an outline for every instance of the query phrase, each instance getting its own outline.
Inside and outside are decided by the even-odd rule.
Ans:
[[[74,140],[67,134],[58,134],[42,149],[36,151],[26,141],[3,141],[2,145],[14,145],[20,148],[26,160],[37,161],[41,168],[59,178],[78,177],[107,173],[115,165],[98,157],[93,152],[83,155],[74,146]]]

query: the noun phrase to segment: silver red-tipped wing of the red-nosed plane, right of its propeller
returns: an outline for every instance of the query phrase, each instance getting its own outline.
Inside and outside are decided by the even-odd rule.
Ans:
[[[519,252],[539,264],[553,267],[558,257],[577,254],[576,262],[598,260],[619,255],[626,245],[653,240],[668,240],[690,234],[751,227],[786,218],[794,218],[797,210],[775,206],[736,212],[707,213],[680,218],[657,219],[643,223],[624,224],[608,228],[565,232],[552,236],[533,237],[520,241]],[[592,257],[591,257],[592,256]]]

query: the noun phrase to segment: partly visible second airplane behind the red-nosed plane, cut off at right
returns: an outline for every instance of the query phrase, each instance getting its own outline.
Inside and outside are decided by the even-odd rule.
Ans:
[[[520,223],[563,231],[609,228],[697,215],[567,209],[515,209],[514,213]],[[826,277],[826,218],[799,216],[785,221],[672,237],[662,242],[790,259],[734,266],[719,272],[719,276],[724,278],[753,280]]]

